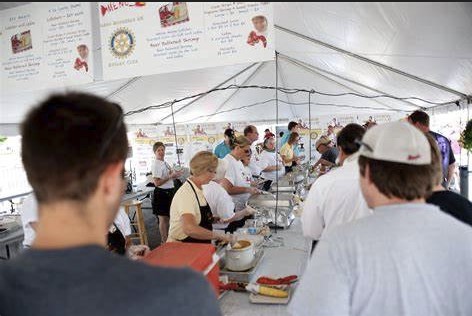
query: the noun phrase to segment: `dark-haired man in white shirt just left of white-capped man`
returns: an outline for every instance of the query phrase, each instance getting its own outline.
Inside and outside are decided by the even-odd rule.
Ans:
[[[349,124],[338,135],[339,167],[320,177],[311,187],[302,214],[303,234],[313,240],[333,227],[371,214],[359,186],[358,141],[365,129]]]

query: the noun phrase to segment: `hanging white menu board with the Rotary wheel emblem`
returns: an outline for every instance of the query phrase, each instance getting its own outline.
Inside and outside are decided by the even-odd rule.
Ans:
[[[269,2],[100,2],[103,78],[274,58]]]

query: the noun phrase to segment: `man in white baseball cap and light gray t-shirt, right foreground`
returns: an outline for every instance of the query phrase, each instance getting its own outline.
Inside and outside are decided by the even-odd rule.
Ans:
[[[293,315],[472,315],[472,229],[433,205],[425,135],[394,122],[368,130],[359,169],[373,215],[323,235]]]

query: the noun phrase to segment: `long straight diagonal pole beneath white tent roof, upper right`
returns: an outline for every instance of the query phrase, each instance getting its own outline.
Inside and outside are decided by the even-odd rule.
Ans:
[[[436,89],[440,89],[440,90],[443,90],[443,91],[446,91],[446,92],[455,94],[455,95],[460,96],[460,97],[462,97],[462,98],[467,97],[467,95],[466,95],[465,93],[462,93],[462,92],[460,92],[460,91],[457,91],[457,90],[451,89],[451,88],[449,88],[449,87],[440,85],[440,84],[438,84],[438,83],[429,81],[429,80],[427,80],[427,79],[424,79],[424,78],[421,78],[421,77],[418,77],[418,76],[409,74],[409,73],[404,72],[404,71],[401,71],[401,70],[399,70],[399,69],[396,69],[396,68],[387,66],[387,65],[382,64],[382,63],[379,63],[379,62],[377,62],[377,61],[375,61],[375,60],[372,60],[372,59],[363,57],[363,56],[361,56],[361,55],[352,53],[352,52],[350,52],[350,51],[347,51],[347,50],[344,50],[344,49],[342,49],[342,48],[336,47],[336,46],[334,46],[334,45],[331,45],[331,44],[322,42],[322,41],[320,41],[320,40],[314,39],[314,38],[312,38],[312,37],[309,37],[309,36],[300,34],[300,33],[298,33],[298,32],[292,31],[292,30],[287,29],[287,28],[285,28],[285,27],[282,27],[282,26],[279,26],[279,25],[275,25],[275,28],[278,29],[278,30],[284,31],[284,32],[286,32],[286,33],[288,33],[288,34],[294,35],[294,36],[296,36],[296,37],[302,38],[302,39],[304,39],[304,40],[306,40],[306,41],[312,42],[312,43],[314,43],[314,44],[324,46],[324,47],[326,47],[326,48],[329,48],[329,49],[335,50],[335,51],[337,51],[337,52],[339,52],[339,53],[342,53],[342,54],[344,54],[344,55],[348,55],[348,56],[350,56],[350,57],[359,59],[359,60],[364,61],[364,62],[366,62],[366,63],[369,63],[369,64],[371,64],[371,65],[374,65],[374,66],[377,66],[377,67],[380,67],[380,68],[389,70],[389,71],[391,71],[391,72],[394,72],[394,73],[397,73],[397,74],[402,75],[402,76],[404,76],[404,77],[407,77],[407,78],[413,79],[413,80],[415,80],[415,81],[421,82],[421,83],[426,84],[426,85],[428,85],[428,86],[435,87]]]

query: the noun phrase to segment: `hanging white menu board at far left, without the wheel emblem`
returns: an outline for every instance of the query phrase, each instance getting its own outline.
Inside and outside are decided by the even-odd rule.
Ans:
[[[88,2],[0,11],[2,93],[92,82],[91,23]]]

